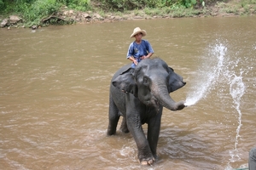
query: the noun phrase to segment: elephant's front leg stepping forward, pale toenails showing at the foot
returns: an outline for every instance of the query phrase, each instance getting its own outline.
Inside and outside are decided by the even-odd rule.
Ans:
[[[130,116],[129,116],[130,115]],[[143,132],[143,127],[138,113],[126,115],[127,126],[137,144],[137,156],[141,164],[151,165],[154,162],[154,156],[150,150],[148,140]]]

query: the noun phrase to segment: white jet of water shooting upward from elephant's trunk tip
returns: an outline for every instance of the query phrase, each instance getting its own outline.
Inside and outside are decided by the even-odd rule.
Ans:
[[[200,75],[197,75],[196,77],[199,77],[197,79],[203,80],[195,83],[193,87],[196,89],[194,91],[191,91],[191,94],[188,94],[186,102],[184,105],[195,105],[200,99],[206,98],[207,94],[217,81],[220,72],[223,68],[223,62],[224,62],[224,55],[226,52],[226,47],[224,47],[223,44],[216,45],[214,48],[212,48],[212,51],[209,53],[212,56],[209,56],[208,59],[213,59],[218,61],[217,65],[209,65],[209,60],[207,60],[207,67],[204,68],[204,71],[198,71],[201,72]],[[214,63],[214,61],[212,61]]]

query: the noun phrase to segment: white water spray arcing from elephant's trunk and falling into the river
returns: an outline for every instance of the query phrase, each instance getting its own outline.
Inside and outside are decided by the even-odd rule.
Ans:
[[[204,99],[207,97],[214,88],[215,84],[218,82],[220,76],[227,78],[227,85],[230,86],[230,95],[233,99],[233,107],[238,112],[238,126],[236,128],[236,141],[234,150],[230,150],[230,162],[235,162],[240,160],[240,154],[237,150],[238,140],[241,138],[240,129],[241,129],[241,111],[240,111],[240,103],[241,97],[245,93],[246,86],[242,82],[242,73],[240,70],[240,76],[236,76],[235,71],[233,71],[234,67],[238,65],[240,59],[236,59],[232,63],[229,62],[229,59],[225,59],[224,64],[224,56],[226,54],[227,48],[223,44],[215,45],[209,53],[209,57],[207,58],[207,66],[203,67],[203,71],[199,70],[198,75],[196,75],[197,83],[192,84],[195,87],[191,90],[190,94],[187,95],[187,99],[184,105],[195,105],[200,99]],[[212,64],[212,65],[211,65]],[[229,68],[230,67],[230,68]],[[225,170],[233,169],[230,166],[230,162],[228,163],[228,167]]]

